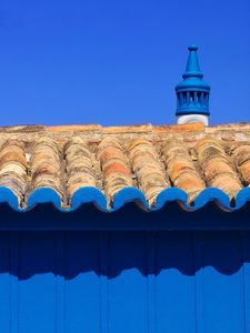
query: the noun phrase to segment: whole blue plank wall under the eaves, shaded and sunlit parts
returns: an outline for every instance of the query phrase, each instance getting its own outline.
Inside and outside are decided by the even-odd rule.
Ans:
[[[250,232],[227,230],[231,216],[239,222],[239,215],[208,211],[213,221],[224,223],[223,231],[36,230],[46,211],[29,215],[2,208],[0,331],[249,332]],[[163,210],[154,214],[128,209],[124,220],[131,218],[129,212],[134,223],[138,214],[141,223],[142,216],[150,216],[156,225],[161,219],[174,219],[171,210],[168,215]],[[186,216],[188,225],[189,216],[203,223],[202,215],[178,212],[177,224],[183,224]],[[68,216],[61,221],[56,212],[49,214],[58,225],[84,224],[82,213],[59,213]],[[119,216],[92,214],[93,222],[101,216],[104,225]],[[24,218],[31,223],[29,216],[32,231],[20,231],[21,224],[19,231],[2,228]]]

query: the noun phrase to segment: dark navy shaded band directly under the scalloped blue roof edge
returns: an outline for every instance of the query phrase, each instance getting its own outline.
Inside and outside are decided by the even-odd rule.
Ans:
[[[184,211],[178,202],[169,202],[154,212],[127,203],[112,213],[101,212],[92,203],[74,212],[60,212],[49,203],[17,212],[0,203],[0,230],[250,230],[250,202],[230,213],[216,202],[192,212]]]

